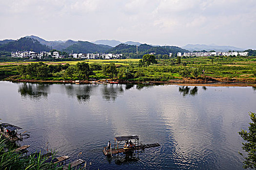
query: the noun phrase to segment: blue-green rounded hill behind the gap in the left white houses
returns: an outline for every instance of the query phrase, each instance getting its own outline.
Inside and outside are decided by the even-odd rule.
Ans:
[[[101,44],[94,44],[88,41],[78,41],[76,44],[73,44],[63,51],[71,53],[72,50],[74,53],[103,53],[112,47]]]

